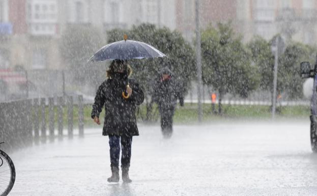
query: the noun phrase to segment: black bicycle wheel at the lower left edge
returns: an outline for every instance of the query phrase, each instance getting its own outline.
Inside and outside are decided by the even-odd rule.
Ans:
[[[4,151],[0,150],[0,196],[9,194],[15,181],[14,164]]]

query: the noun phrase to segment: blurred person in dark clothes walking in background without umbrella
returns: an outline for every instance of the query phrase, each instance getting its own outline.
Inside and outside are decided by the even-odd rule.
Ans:
[[[165,138],[172,134],[173,116],[177,99],[184,106],[183,88],[178,83],[168,67],[164,67],[156,78],[153,88],[152,101],[158,104],[161,116],[161,130]]]

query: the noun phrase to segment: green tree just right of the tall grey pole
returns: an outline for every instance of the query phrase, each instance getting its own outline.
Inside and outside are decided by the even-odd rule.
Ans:
[[[217,28],[210,25],[201,33],[203,82],[218,91],[219,114],[224,94],[230,92],[245,98],[257,87],[257,71],[241,40],[230,23],[218,23]]]

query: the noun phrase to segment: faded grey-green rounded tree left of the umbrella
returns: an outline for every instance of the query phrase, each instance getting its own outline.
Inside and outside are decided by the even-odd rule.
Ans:
[[[87,66],[88,59],[103,44],[101,32],[98,28],[84,25],[70,25],[62,34],[60,52],[67,68],[74,72],[74,78],[78,82],[91,81],[91,77],[98,73],[98,66]]]

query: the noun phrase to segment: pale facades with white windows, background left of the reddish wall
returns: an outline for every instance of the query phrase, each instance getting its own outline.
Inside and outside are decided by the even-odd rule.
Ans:
[[[63,69],[59,41],[70,25],[175,30],[175,8],[175,0],[0,0],[0,69]]]

